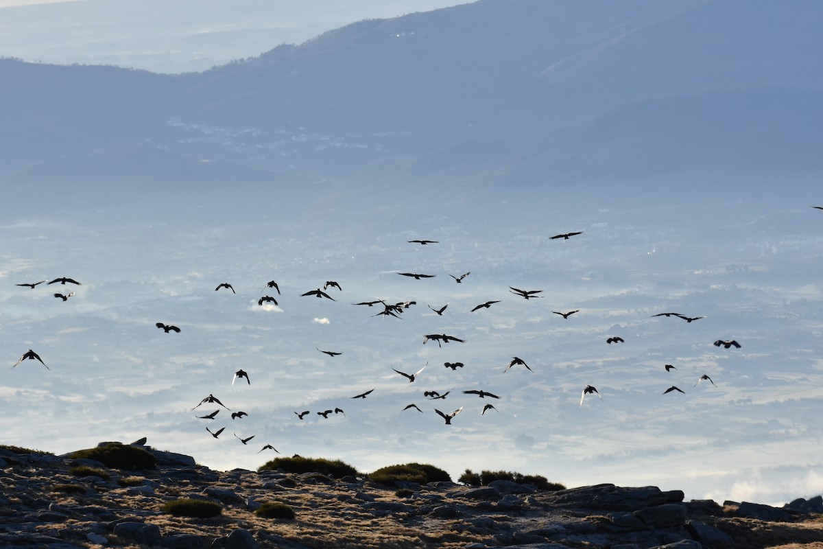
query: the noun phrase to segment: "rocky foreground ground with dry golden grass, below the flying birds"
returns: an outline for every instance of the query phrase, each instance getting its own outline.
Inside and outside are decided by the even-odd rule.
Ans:
[[[316,473],[212,471],[182,454],[143,446],[148,471],[0,447],[0,547],[527,547],[530,549],[823,548],[823,498],[783,508],[746,502],[683,501],[681,491],[610,484],[563,491],[495,481],[396,487]],[[86,465],[108,478],[78,477]],[[161,508],[181,497],[222,506],[211,519]],[[254,510],[282,502],[295,519]]]

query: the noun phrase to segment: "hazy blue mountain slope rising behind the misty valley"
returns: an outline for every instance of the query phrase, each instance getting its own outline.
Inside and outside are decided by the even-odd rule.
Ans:
[[[819,2],[481,0],[179,76],[0,60],[0,195],[56,162],[117,184],[145,147],[182,183],[817,174],[821,29]]]

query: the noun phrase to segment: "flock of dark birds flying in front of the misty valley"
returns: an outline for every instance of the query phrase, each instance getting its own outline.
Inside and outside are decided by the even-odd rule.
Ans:
[[[821,209],[823,209],[823,208],[821,208]],[[552,236],[551,239],[552,240],[570,240],[571,237],[574,237],[576,235],[581,235],[582,233],[583,233],[583,231],[563,233],[563,234],[560,234],[560,235]],[[428,246],[428,245],[431,245],[431,244],[439,244],[439,242],[437,240],[407,240],[407,242],[410,243],[410,244],[420,244],[420,245],[423,245],[423,246]],[[449,276],[452,277],[453,280],[456,283],[463,284],[464,281],[467,280],[467,277],[469,277],[470,274],[471,274],[471,272],[463,272],[463,274],[460,274],[460,275],[449,274]],[[425,274],[425,273],[421,273],[421,272],[398,272],[398,275],[400,275],[402,277],[410,277],[410,278],[413,278],[415,280],[423,280],[423,279],[427,279],[427,278],[433,278],[433,277],[436,276],[434,274]],[[48,282],[46,282],[45,280],[36,281],[36,282],[26,282],[26,283],[17,284],[16,286],[28,287],[30,289],[35,289],[37,286],[40,286],[41,284],[44,284],[44,283],[46,283],[47,286],[51,285],[51,284],[60,284],[60,285],[63,285],[63,286],[65,286],[66,284],[72,284],[72,285],[77,285],[77,286],[81,285],[81,283],[79,281],[76,281],[72,278],[60,277],[60,278],[55,278],[52,281],[48,281]],[[214,291],[231,291],[233,294],[236,294],[235,288],[229,282],[221,282],[220,284],[218,284],[215,287]],[[342,291],[343,291],[342,286],[337,281],[325,281],[325,283],[323,284],[322,287],[318,287],[317,289],[310,290],[310,291],[305,291],[304,293],[300,294],[300,296],[301,297],[314,296],[318,299],[334,301],[335,298],[332,297],[330,292],[339,293],[339,292],[342,292]],[[519,297],[522,297],[524,300],[540,299],[540,298],[543,297],[543,295],[541,295],[542,292],[543,292],[542,290],[523,290],[521,288],[517,288],[517,287],[514,287],[514,286],[509,286],[509,292],[514,294],[514,295],[518,295]],[[268,281],[265,284],[264,288],[263,288],[263,292],[261,292],[261,293],[265,293],[266,295],[263,295],[258,299],[258,305],[260,305],[260,306],[267,305],[267,304],[279,305],[278,301],[277,301],[277,297],[275,297],[274,295],[269,295],[269,294],[275,294],[276,293],[276,295],[278,297],[281,296],[280,286],[278,285],[277,281],[274,281],[274,280]],[[72,295],[74,295],[74,292],[54,293],[54,296],[56,298],[61,298],[63,301],[68,300],[68,298],[71,297]],[[481,311],[482,309],[490,309],[492,305],[498,304],[498,303],[500,303],[500,301],[501,300],[486,300],[486,301],[474,306],[471,309],[471,312],[475,313],[477,311]],[[378,313],[372,314],[372,316],[374,316],[374,317],[383,316],[383,317],[401,318],[402,314],[405,314],[405,312],[410,307],[412,307],[412,305],[416,305],[416,301],[406,300],[406,301],[402,301],[402,302],[391,303],[391,302],[388,302],[387,300],[376,299],[376,300],[369,300],[369,301],[360,301],[360,302],[357,302],[357,303],[353,303],[352,305],[360,305],[360,306],[379,308],[380,310],[379,310]],[[432,305],[427,305],[427,306],[430,310],[432,310],[438,316],[443,316],[446,309],[449,307],[449,304],[447,303],[446,305],[442,305],[442,306],[439,306],[439,307],[433,307]],[[579,314],[580,309],[572,309],[572,310],[567,310],[567,311],[565,311],[565,310],[552,310],[551,312],[552,312],[552,314],[557,314],[558,316],[560,316],[564,320],[568,320],[568,319],[570,319],[570,317],[572,315]],[[695,322],[697,320],[700,320],[700,319],[704,318],[702,316],[694,316],[693,317],[693,316],[688,316],[686,314],[673,313],[673,312],[658,313],[658,314],[653,314],[652,316],[653,317],[673,317],[673,318],[677,318],[677,319],[682,319],[682,320],[686,321],[686,323],[692,323],[692,322]],[[181,333],[181,328],[179,328],[178,326],[175,326],[174,324],[157,322],[156,323],[156,328],[163,330],[164,333]],[[463,342],[465,342],[465,340],[463,340],[460,337],[455,337],[453,335],[449,335],[449,334],[446,334],[446,333],[428,333],[428,334],[425,334],[425,336],[423,337],[423,343],[425,344],[427,342],[437,342],[438,347],[443,347],[444,345],[449,344],[449,342],[463,343]],[[624,340],[623,340],[623,338],[621,338],[619,336],[611,336],[611,337],[607,337],[606,342],[607,342],[607,344],[611,345],[611,344],[622,343],[622,342],[624,342]],[[735,347],[735,348],[740,348],[741,347],[741,345],[737,341],[734,341],[734,340],[721,340],[721,339],[718,339],[716,342],[714,342],[714,345],[716,347],[724,347],[726,349],[729,349],[731,347]],[[335,356],[340,356],[342,354],[342,351],[329,351],[329,350],[320,349],[319,347],[316,347],[316,348],[317,348],[317,351],[319,351],[319,352],[321,352],[321,353],[323,353],[323,354],[325,354],[329,357],[332,357],[332,358],[335,357]],[[43,365],[46,369],[50,370],[49,366],[45,364],[45,362],[40,357],[40,355],[38,355],[38,353],[35,352],[32,349],[29,349],[28,351],[23,353],[22,356],[20,356],[19,360],[17,360],[16,363],[14,365],[12,365],[12,369],[15,368],[16,366],[20,365],[24,361],[39,361],[41,365]],[[424,371],[428,367],[428,365],[429,365],[429,363],[426,362],[425,365],[423,365],[419,370],[416,370],[413,373],[398,370],[396,368],[392,368],[392,370],[394,372],[396,372],[399,376],[402,376],[402,379],[407,380],[407,382],[411,384],[411,383],[415,383],[420,378],[420,376],[424,373]],[[448,362],[448,361],[444,362],[444,367],[446,369],[453,370],[453,371],[457,370],[458,368],[463,368],[463,366],[464,365],[463,365],[462,362]],[[529,372],[533,372],[532,368],[526,363],[526,361],[524,361],[522,358],[520,358],[518,356],[513,356],[511,358],[511,360],[509,361],[508,365],[505,366],[505,368],[503,370],[503,373],[506,373],[509,370],[511,370],[513,368],[516,368],[516,367],[520,367],[520,366],[522,366],[524,370],[528,370]],[[665,369],[666,369],[666,371],[677,370],[677,368],[674,365],[665,365]],[[242,369],[239,369],[239,370],[235,371],[235,374],[232,378],[231,384],[234,385],[238,381],[241,384],[244,382],[246,385],[251,385],[251,383],[252,383],[251,379],[249,378],[249,373],[246,372],[245,370],[242,370]],[[700,382],[702,382],[702,381],[708,381],[710,384],[712,384],[716,387],[716,385],[714,384],[714,381],[711,378],[709,378],[709,375],[701,375],[700,378],[695,383],[695,387],[698,384],[700,384]],[[373,392],[374,392],[374,388],[370,388],[369,390],[366,390],[362,393],[358,393],[354,396],[351,396],[350,398],[351,399],[365,399],[365,398],[369,397],[370,394],[373,393]],[[451,391],[445,391],[444,393],[438,393],[437,391],[426,390],[426,391],[423,392],[423,395],[429,401],[438,401],[438,400],[444,401],[445,398],[449,395],[449,393],[451,393]],[[485,389],[466,389],[466,390],[463,390],[462,393],[466,394],[466,395],[477,396],[477,398],[481,398],[481,399],[484,399],[484,400],[485,399],[493,399],[495,401],[500,401],[500,396],[499,395],[497,395],[495,393],[491,393],[489,391],[486,391]],[[669,388],[667,388],[666,390],[663,391],[663,394],[667,394],[667,393],[684,393],[684,391],[681,388],[678,388],[676,385],[672,385],[671,387],[669,387]],[[585,398],[587,396],[596,396],[601,401],[603,400],[601,393],[597,390],[596,387],[594,387],[591,384],[586,384],[584,386],[584,388],[582,388],[581,393],[580,393],[579,407],[582,407],[584,405],[584,401],[585,401]],[[204,405],[208,405],[208,404],[215,405],[217,407],[216,410],[214,410],[213,412],[204,413],[202,415],[196,415],[195,417],[198,420],[215,421],[222,410],[225,410],[226,412],[230,412],[230,416],[231,416],[232,421],[242,420],[245,416],[249,416],[249,414],[247,412],[244,412],[244,411],[239,411],[239,410],[232,411],[232,410],[230,410],[228,407],[226,407],[225,404],[223,404],[223,402],[221,402],[221,400],[219,398],[216,398],[214,396],[214,394],[209,394],[206,398],[202,398],[202,400],[200,402],[198,402],[198,404],[195,407],[192,408],[192,412],[198,410],[199,407],[204,406]],[[440,410],[438,407],[434,407],[433,409],[434,409],[434,412],[440,418],[442,418],[445,425],[452,425],[452,421],[458,416],[458,414],[463,412],[464,407],[465,406],[457,407],[456,409],[454,409],[451,412],[449,412],[449,411],[444,412],[443,410]],[[409,403],[409,404],[407,404],[406,407],[402,408],[403,412],[405,412],[407,410],[415,410],[416,412],[421,412],[421,413],[424,412],[421,409],[421,407],[419,407],[416,403]],[[491,402],[484,402],[480,414],[485,415],[486,412],[491,412],[491,411],[496,411],[496,410],[497,410],[497,408],[495,408],[495,406]],[[294,413],[295,413],[295,417],[297,418],[296,421],[304,421],[305,418],[307,416],[309,416],[311,411],[310,410],[299,410],[299,411],[295,411]],[[324,408],[323,410],[315,411],[315,414],[319,417],[322,417],[323,419],[328,419],[329,417],[332,417],[332,416],[344,416],[344,417],[346,416],[346,413],[342,410],[341,407]],[[216,429],[216,430],[212,430],[212,429],[209,428],[209,426],[206,426],[206,430],[207,430],[208,435],[211,435],[213,438],[217,439],[222,435],[224,430],[226,430],[226,426],[221,426],[219,429]],[[240,443],[242,443],[244,445],[249,444],[249,442],[251,440],[253,440],[256,436],[256,435],[238,435],[236,432],[233,433],[233,434],[234,434],[235,438],[238,439],[240,441]],[[272,444],[264,444],[263,447],[258,450],[258,453],[263,452],[264,450],[267,450],[267,449],[270,449],[274,452],[277,452],[277,454],[280,453]]]

